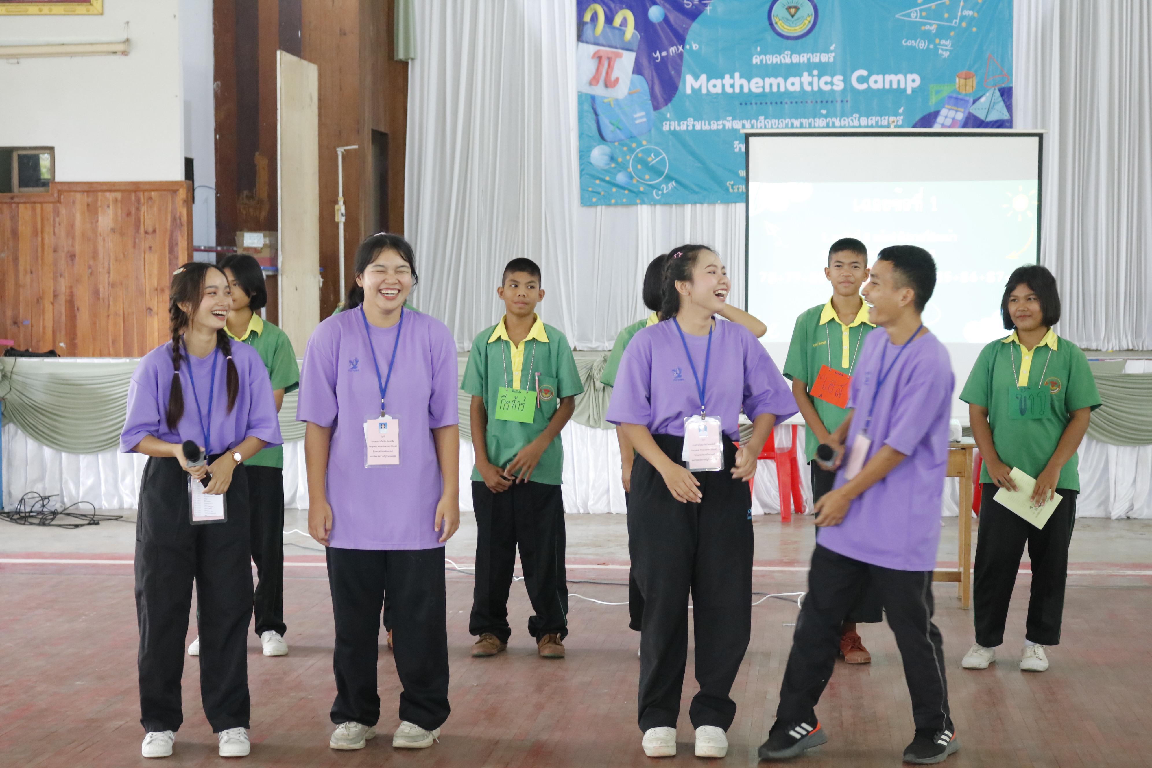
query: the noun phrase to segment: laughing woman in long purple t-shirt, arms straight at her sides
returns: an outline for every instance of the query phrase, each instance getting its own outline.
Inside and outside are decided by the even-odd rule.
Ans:
[[[444,542],[460,525],[456,342],[442,322],[404,307],[416,281],[403,237],[361,243],[357,287],[312,333],[301,371],[308,530],[327,547],[336,625],[333,750],[361,750],[376,736],[385,585],[403,686],[392,745],[432,746],[448,718]]]

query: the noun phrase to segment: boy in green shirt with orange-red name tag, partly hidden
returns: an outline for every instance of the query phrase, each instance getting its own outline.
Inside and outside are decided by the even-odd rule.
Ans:
[[[824,276],[832,283],[832,298],[805,310],[796,319],[783,374],[791,379],[793,395],[804,417],[804,453],[812,471],[812,502],[832,491],[836,473],[820,466],[816,449],[848,416],[848,388],[864,337],[873,326],[861,286],[869,277],[867,249],[854,237],[838,239],[828,249]],[[817,530],[819,535],[819,530]],[[856,633],[858,622],[884,619],[880,601],[866,586],[861,600],[840,628],[840,654],[850,664],[866,664],[872,655]]]

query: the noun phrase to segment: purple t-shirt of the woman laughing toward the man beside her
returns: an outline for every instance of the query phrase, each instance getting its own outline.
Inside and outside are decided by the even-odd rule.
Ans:
[[[684,334],[684,339],[703,382],[708,337]],[[708,416],[720,419],[732,440],[740,439],[741,409],[753,420],[763,413],[775,413],[783,420],[799,410],[788,382],[756,336],[720,319],[712,332],[704,405]],[[684,417],[699,412],[696,378],[676,324],[665,320],[636,332],[620,360],[607,420],[643,424],[652,434],[683,438]]]

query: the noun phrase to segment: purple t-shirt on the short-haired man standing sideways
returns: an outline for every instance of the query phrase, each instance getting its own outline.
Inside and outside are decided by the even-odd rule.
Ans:
[[[847,457],[864,429],[876,393],[867,459],[884,446],[892,446],[907,458],[851,503],[843,523],[820,529],[817,541],[873,565],[931,571],[940,543],[940,501],[948,465],[955,378],[948,350],[933,334],[908,343],[897,359],[901,348],[888,341],[885,329],[878,328],[865,339],[848,401],[848,408],[855,410],[846,443]],[[880,375],[885,380],[877,393]],[[834,487],[847,481],[841,464]]]

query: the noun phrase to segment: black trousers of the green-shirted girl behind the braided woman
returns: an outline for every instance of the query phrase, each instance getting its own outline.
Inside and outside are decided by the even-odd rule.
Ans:
[[[248,507],[252,516],[256,563],[256,636],[285,626],[285,472],[275,466],[248,466]]]

